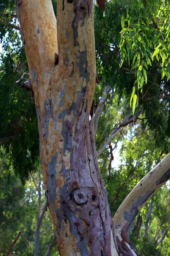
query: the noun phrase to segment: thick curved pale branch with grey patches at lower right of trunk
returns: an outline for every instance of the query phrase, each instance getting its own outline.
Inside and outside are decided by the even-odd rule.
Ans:
[[[113,222],[118,244],[122,241],[127,246],[130,244],[128,233],[134,219],[153,194],[169,179],[170,153],[134,187],[114,215]]]

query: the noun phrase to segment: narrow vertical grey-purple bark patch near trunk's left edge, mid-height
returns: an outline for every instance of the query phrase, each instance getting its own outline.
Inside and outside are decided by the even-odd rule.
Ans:
[[[43,137],[47,139],[48,137],[48,121],[51,117],[51,112],[52,112],[52,103],[51,99],[48,99],[47,101],[44,102],[44,115],[42,119],[42,125],[43,125]]]

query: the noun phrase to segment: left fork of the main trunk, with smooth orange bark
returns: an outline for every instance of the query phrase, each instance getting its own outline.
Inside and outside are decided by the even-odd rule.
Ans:
[[[21,3],[15,0],[15,4],[31,84],[36,93],[40,87],[45,86],[44,79],[49,79],[48,72],[54,68],[55,52],[58,53],[56,17],[51,1]]]

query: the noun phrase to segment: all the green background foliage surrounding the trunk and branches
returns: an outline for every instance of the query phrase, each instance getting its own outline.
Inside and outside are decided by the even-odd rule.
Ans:
[[[123,128],[121,134],[111,141],[113,148],[115,146],[113,161],[119,154],[120,162],[117,168],[111,168],[109,179],[109,146],[99,156],[112,215],[136,183],[170,151],[169,3],[165,6],[160,0],[147,2],[145,7],[141,0],[111,0],[104,13],[94,6],[99,78],[94,95],[95,109],[103,88],[111,86],[99,119],[96,148],[101,147],[131,112],[130,107],[133,113],[143,111],[140,119]],[[53,4],[56,5],[56,1]],[[15,12],[14,2],[3,1],[0,12]],[[3,20],[17,25],[17,19],[3,17]],[[36,192],[30,194],[36,188],[28,173],[35,172],[39,166],[37,117],[31,93],[20,87],[28,76],[24,76],[20,85],[16,83],[23,73],[28,73],[20,35],[10,26],[0,24],[0,40],[3,42],[0,54],[0,138],[15,136],[11,142],[3,143],[0,157],[0,253],[8,249],[21,230],[22,236],[14,247],[15,255],[33,255],[38,198]],[[116,151],[117,145],[121,148],[119,152]],[[25,183],[24,188],[14,173]],[[34,176],[37,178],[36,174]],[[17,191],[19,194],[13,196]],[[146,239],[144,226],[148,211],[149,204],[142,209],[142,225],[133,236],[133,243],[142,255],[167,256],[170,254],[168,186],[154,197]],[[162,244],[158,244],[155,236],[164,231],[166,236]],[[44,255],[52,239],[53,229],[47,213],[41,229],[40,255]],[[53,250],[51,255],[57,255],[57,252],[55,254]]]

